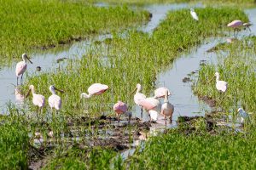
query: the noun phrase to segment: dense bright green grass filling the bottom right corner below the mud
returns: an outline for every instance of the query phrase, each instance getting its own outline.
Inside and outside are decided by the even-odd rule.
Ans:
[[[249,134],[191,133],[172,129],[149,139],[142,153],[130,158],[130,169],[253,169],[255,130]]]

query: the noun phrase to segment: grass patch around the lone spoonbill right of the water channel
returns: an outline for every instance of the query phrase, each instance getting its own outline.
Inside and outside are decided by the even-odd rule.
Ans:
[[[195,94],[207,96],[217,101],[217,107],[227,112],[236,112],[239,107],[245,111],[256,111],[256,38],[247,38],[230,45],[223,50],[228,56],[219,56],[218,65],[205,65],[199,72],[198,82],[195,83]],[[220,73],[220,80],[228,82],[225,94],[219,94],[215,81],[209,82],[214,72]]]

